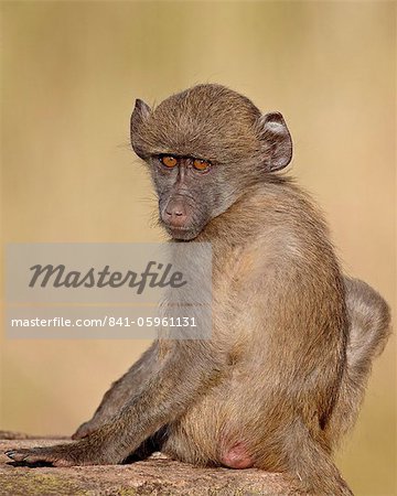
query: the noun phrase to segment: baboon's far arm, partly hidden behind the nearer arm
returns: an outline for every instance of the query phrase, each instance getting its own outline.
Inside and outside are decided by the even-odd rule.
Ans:
[[[127,401],[144,385],[144,381],[158,365],[158,341],[155,341],[130,369],[111,385],[110,389],[105,392],[93,418],[84,422],[72,435],[72,439],[82,439],[89,435],[122,409]]]

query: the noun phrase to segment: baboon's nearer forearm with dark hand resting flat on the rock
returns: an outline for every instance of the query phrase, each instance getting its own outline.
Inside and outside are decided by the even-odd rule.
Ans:
[[[201,359],[193,360],[197,356]],[[120,463],[148,436],[183,414],[203,388],[216,384],[219,369],[208,344],[175,345],[162,368],[121,412],[87,438],[55,446],[10,450],[7,454],[14,461],[55,466]]]

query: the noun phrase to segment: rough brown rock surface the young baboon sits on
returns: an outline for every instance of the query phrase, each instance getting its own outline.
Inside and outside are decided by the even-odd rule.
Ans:
[[[129,465],[26,467],[3,453],[11,448],[51,445],[62,438],[0,431],[1,496],[254,496],[298,495],[282,474],[255,468],[201,468],[154,453]]]

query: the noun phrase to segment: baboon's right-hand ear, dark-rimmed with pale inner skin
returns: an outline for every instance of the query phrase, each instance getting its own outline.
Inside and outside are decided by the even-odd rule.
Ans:
[[[269,172],[280,171],[292,158],[292,140],[280,112],[260,118],[260,137],[265,145],[265,165]]]

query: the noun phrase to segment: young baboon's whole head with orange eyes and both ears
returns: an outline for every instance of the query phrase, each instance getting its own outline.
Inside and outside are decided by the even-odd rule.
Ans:
[[[137,100],[131,144],[149,165],[161,223],[181,240],[195,238],[292,154],[280,114],[261,116],[246,97],[218,85],[186,89],[153,110]]]

